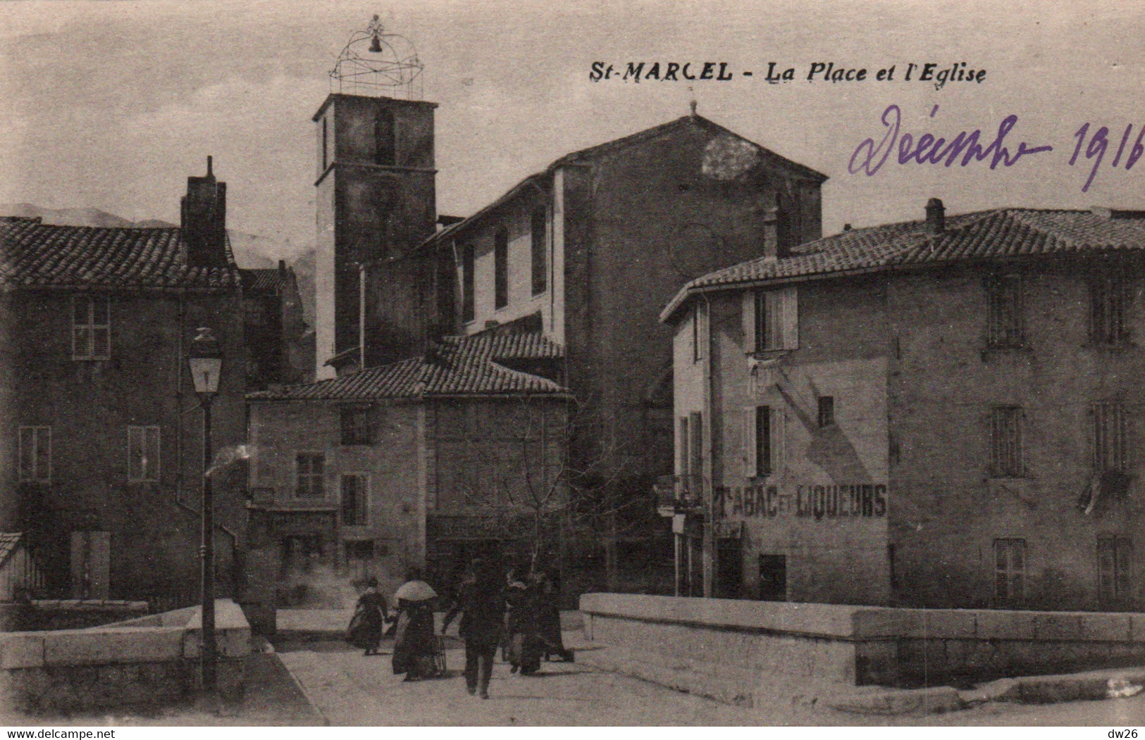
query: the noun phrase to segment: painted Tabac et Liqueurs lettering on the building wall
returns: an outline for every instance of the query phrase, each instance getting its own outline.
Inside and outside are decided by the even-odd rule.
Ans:
[[[717,486],[712,491],[716,517],[793,516],[822,519],[860,519],[886,516],[886,485],[844,486]]]

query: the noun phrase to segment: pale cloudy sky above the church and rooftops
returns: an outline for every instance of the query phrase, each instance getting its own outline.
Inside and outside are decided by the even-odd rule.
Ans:
[[[339,51],[373,14],[417,47],[421,97],[440,105],[441,214],[468,215],[560,156],[684,116],[692,100],[700,114],[829,175],[824,234],[922,218],[931,197],[948,213],[1145,208],[1145,161],[1131,157],[1145,127],[1145,6],[1120,0],[5,2],[0,202],[177,223],[185,177],[204,174],[212,154],[228,183],[228,225],[292,256],[314,239],[310,118]],[[623,71],[657,61],[662,70],[724,62],[732,79],[590,74],[594,62]],[[771,62],[795,80],[768,83]],[[867,69],[867,79],[808,81],[816,62]],[[985,78],[940,89],[919,69],[903,79],[911,63],[962,62]],[[891,81],[874,79],[891,65]],[[985,148],[1017,116],[1004,140],[1011,158],[1021,142],[1053,149],[992,169],[992,157],[918,164],[899,156],[913,144],[895,144],[867,174],[852,158],[864,140],[883,141],[890,105],[901,111],[900,140],[981,129]]]

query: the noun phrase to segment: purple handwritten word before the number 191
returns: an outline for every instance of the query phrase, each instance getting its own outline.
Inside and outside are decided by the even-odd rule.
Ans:
[[[931,110],[931,118],[934,118],[935,113],[938,113],[938,105]],[[950,167],[955,161],[960,161],[961,157],[960,164],[963,167],[972,161],[989,159],[990,169],[995,169],[1000,164],[1012,167],[1022,157],[1053,151],[1050,145],[1029,146],[1026,142],[1020,142],[1011,157],[1010,150],[1004,143],[1005,137],[1018,124],[1018,117],[1013,114],[1002,119],[1002,122],[998,124],[997,135],[985,148],[979,142],[982,135],[981,129],[974,129],[970,134],[962,132],[949,142],[945,137],[933,134],[921,134],[917,141],[911,134],[900,135],[902,111],[898,105],[887,105],[881,120],[886,127],[886,133],[877,144],[874,138],[867,138],[855,148],[854,153],[851,154],[851,162],[847,165],[847,172],[852,175],[859,172],[866,173],[868,176],[874,175],[883,167],[895,149],[898,149],[900,165],[909,165],[910,162],[919,165],[942,164]]]

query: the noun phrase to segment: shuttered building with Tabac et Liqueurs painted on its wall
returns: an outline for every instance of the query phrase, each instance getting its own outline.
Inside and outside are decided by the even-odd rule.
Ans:
[[[1139,608],[1143,268],[1145,212],[932,199],[690,281],[680,592]]]

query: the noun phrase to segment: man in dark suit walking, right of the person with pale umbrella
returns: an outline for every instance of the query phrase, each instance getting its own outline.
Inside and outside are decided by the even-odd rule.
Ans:
[[[441,634],[461,613],[459,634],[465,640],[465,689],[471,694],[489,698],[489,678],[493,673],[493,657],[500,643],[505,600],[496,571],[477,558],[469,566],[465,581],[457,592],[457,602],[445,613]]]

